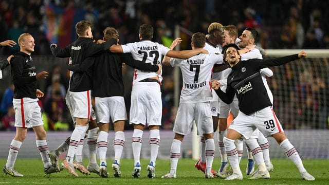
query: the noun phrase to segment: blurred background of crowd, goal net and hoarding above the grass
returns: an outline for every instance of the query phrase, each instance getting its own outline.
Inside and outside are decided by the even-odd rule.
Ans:
[[[68,84],[67,59],[54,58],[50,54],[50,43],[64,47],[76,39],[75,24],[81,20],[93,23],[95,39],[102,38],[102,30],[107,26],[115,27],[120,33],[120,43],[138,41],[138,27],[151,24],[154,27],[153,41],[169,46],[174,39],[175,25],[179,25],[179,36],[184,42],[180,49],[190,48],[193,32],[206,33],[211,22],[223,25],[233,24],[242,33],[245,27],[253,27],[260,32],[259,46],[264,49],[329,49],[329,12],[327,1],[0,1],[0,41],[17,41],[23,32],[34,36],[36,45],[32,53],[33,61],[39,71],[50,72],[49,79],[41,81],[39,88],[45,93],[40,105],[43,107],[44,120],[48,129],[49,148],[53,149],[70,133],[60,132],[72,129],[64,97]],[[5,47],[0,57],[7,58],[19,47]],[[303,158],[328,159],[329,147],[325,142],[329,135],[328,126],[328,50],[302,61],[285,66],[274,67],[274,76],[268,83],[275,96],[275,111],[285,128],[287,136],[299,150]],[[271,57],[271,56],[269,56]],[[132,68],[123,70],[125,102],[129,110]],[[0,80],[2,97],[0,158],[8,155],[8,144],[14,136],[13,111],[10,104],[10,67],[3,70]],[[174,87],[175,81],[171,67],[163,67],[161,90],[163,101],[161,151],[159,157],[168,158],[173,133],[171,128],[175,119]],[[9,103],[6,103],[9,102]],[[9,110],[9,111],[8,111]],[[129,112],[128,112],[129,113]],[[131,126],[126,125],[130,130]],[[53,130],[60,130],[52,132]],[[167,130],[167,131],[165,131]],[[5,132],[7,131],[7,132]],[[113,140],[113,132],[109,140]],[[191,138],[192,136],[188,136]],[[131,158],[129,140],[131,132],[126,132],[126,147],[123,156]],[[148,134],[144,135],[147,141]],[[186,139],[186,157],[191,156],[192,139]],[[270,139],[272,157],[284,157],[278,145]],[[111,144],[111,142],[109,142]],[[110,148],[110,147],[109,147]],[[109,149],[111,150],[111,149]],[[148,155],[148,145],[143,144],[143,154]],[[217,149],[216,149],[217,150]],[[36,152],[34,136],[29,132],[22,146],[24,157],[39,157]],[[30,152],[31,151],[31,152]],[[112,151],[112,150],[111,150]],[[26,156],[26,154],[31,156]],[[218,154],[218,152],[216,152]],[[113,151],[108,153],[113,156]],[[147,157],[147,156],[143,156]]]

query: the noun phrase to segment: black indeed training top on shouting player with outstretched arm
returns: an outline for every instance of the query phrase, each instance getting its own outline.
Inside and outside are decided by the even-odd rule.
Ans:
[[[277,59],[250,59],[243,62],[240,61],[232,67],[232,71],[227,78],[226,93],[221,88],[216,90],[216,93],[227,104],[233,101],[235,94],[239,100],[241,112],[246,115],[272,106],[262,80],[260,69],[283,65],[297,59],[299,59],[298,54],[293,54]]]

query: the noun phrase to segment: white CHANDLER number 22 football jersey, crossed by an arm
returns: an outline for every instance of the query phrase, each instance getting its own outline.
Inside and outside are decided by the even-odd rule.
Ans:
[[[128,43],[121,46],[123,53],[132,53],[135,60],[142,61],[144,63],[151,63],[153,65],[160,64],[162,55],[166,55],[170,50],[168,47],[150,40],[141,40],[139,42]],[[133,83],[156,76],[159,77],[161,82],[162,77],[156,72],[135,69]]]

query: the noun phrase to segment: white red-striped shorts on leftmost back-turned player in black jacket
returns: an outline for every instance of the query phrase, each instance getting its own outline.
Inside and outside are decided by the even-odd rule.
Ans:
[[[82,92],[69,91],[69,97],[72,107],[72,116],[76,118],[90,119],[90,116],[92,115],[91,90]]]

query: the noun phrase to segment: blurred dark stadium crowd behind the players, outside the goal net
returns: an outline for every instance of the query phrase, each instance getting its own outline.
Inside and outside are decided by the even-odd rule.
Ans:
[[[102,38],[102,30],[107,26],[118,29],[120,43],[138,40],[138,27],[142,23],[154,26],[154,42],[169,46],[172,42],[174,26],[179,24],[191,32],[206,32],[209,23],[220,22],[223,25],[233,24],[241,33],[246,27],[260,32],[258,45],[264,49],[282,48],[329,48],[329,13],[325,10],[326,1],[197,1],[197,0],[2,0],[0,1],[0,41],[17,41],[20,34],[31,33],[35,38],[34,58],[50,54],[49,44],[56,43],[60,48],[76,39],[75,24],[81,20],[92,22],[94,38]],[[163,8],[166,7],[166,8]],[[233,8],[232,8],[233,7]],[[229,17],[229,18],[228,18]],[[191,35],[182,32],[181,49],[190,48]],[[19,46],[5,47],[0,50],[1,56],[13,54]],[[4,58],[4,57],[2,57]],[[68,86],[68,75],[65,68],[46,64],[50,78],[40,87],[45,92],[42,107],[45,118],[48,118],[49,130],[67,129],[61,122],[70,121],[64,98]],[[130,102],[129,86],[132,70],[124,68],[125,101]],[[162,126],[171,129],[176,110],[173,108],[173,79],[170,68],[163,68],[165,77],[162,91]],[[319,80],[321,82],[321,79]],[[323,81],[323,80],[322,80]],[[323,84],[320,83],[319,84]],[[302,83],[302,82],[301,82]],[[3,86],[4,87],[4,86]],[[298,88],[298,87],[297,87]],[[324,88],[320,86],[320,89]],[[8,84],[0,90],[2,94],[1,130],[12,130],[14,113],[11,106],[12,86]],[[308,102],[308,103],[307,103]],[[307,107],[312,99],[304,102],[305,114],[312,111]],[[129,109],[129,105],[126,105]],[[302,111],[302,110],[301,110]],[[302,117],[300,119],[303,119]],[[69,124],[70,126],[71,124]],[[290,125],[296,128],[295,125]],[[324,126],[326,127],[326,126]],[[70,127],[72,128],[72,127]],[[129,127],[128,127],[129,128]]]

